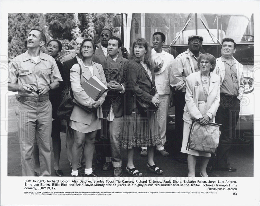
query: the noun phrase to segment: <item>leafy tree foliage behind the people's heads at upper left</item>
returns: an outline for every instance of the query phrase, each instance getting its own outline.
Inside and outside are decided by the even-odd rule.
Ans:
[[[120,37],[120,28],[113,28],[114,14],[8,14],[8,56],[15,57],[24,53],[27,48],[27,35],[32,28],[43,31],[47,42],[57,39],[62,43],[62,51],[56,57],[60,60],[64,55],[72,53],[75,39],[79,36],[92,38],[100,45],[100,33],[104,28],[112,30],[114,36]],[[45,52],[45,47],[41,50]]]

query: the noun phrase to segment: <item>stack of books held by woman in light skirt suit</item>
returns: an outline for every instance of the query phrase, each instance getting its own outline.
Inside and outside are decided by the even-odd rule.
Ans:
[[[90,77],[89,80],[84,81],[81,86],[84,89],[84,91],[87,93],[87,95],[95,101],[98,100],[100,96],[107,91],[107,87],[102,83],[102,81],[97,76]],[[82,107],[84,110],[87,110],[88,112],[91,111],[90,108],[81,105],[75,99],[73,100],[73,102],[75,102],[77,105]]]

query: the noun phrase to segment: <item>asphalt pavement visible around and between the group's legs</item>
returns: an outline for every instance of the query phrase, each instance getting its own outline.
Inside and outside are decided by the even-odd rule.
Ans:
[[[22,176],[21,169],[21,155],[20,155],[20,145],[18,143],[17,137],[17,121],[15,119],[14,106],[16,104],[10,102],[15,102],[13,96],[8,97],[8,176]],[[165,149],[170,153],[169,156],[163,157],[159,152],[155,151],[154,162],[163,171],[163,175],[157,175],[149,171],[146,167],[147,157],[141,157],[141,148],[136,148],[134,154],[134,164],[135,167],[142,172],[143,176],[146,177],[187,177],[188,167],[187,164],[179,163],[175,157],[177,155],[176,140],[174,139],[174,125],[168,125],[166,133],[166,145]],[[71,176],[70,166],[67,159],[67,152],[65,146],[66,134],[61,132],[61,156],[60,156],[60,167],[64,173],[64,176]],[[226,171],[213,171],[209,174],[209,177],[253,177],[254,176],[254,146],[253,137],[251,137],[250,144],[233,144],[231,145],[230,151],[230,162],[231,166],[237,168],[236,172],[226,172]],[[130,175],[126,172],[127,163],[127,151],[125,149],[121,150],[123,177],[129,177]],[[95,153],[93,158],[93,163],[95,162]],[[55,176],[55,171],[53,169],[54,156],[51,148],[51,176]],[[102,165],[95,165],[95,173],[98,176],[110,177],[113,176],[113,169],[108,171],[102,170]],[[199,177],[199,158],[196,165],[196,176]]]

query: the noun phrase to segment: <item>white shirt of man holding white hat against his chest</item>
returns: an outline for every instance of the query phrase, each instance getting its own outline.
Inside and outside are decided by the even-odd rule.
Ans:
[[[155,49],[152,49],[152,54],[156,54],[157,52]],[[156,89],[159,95],[166,95],[170,94],[170,71],[172,68],[172,64],[174,62],[173,55],[167,53],[162,49],[161,54],[164,55],[164,65],[167,64],[165,70],[161,72],[160,74],[155,74],[154,81],[156,85]]]

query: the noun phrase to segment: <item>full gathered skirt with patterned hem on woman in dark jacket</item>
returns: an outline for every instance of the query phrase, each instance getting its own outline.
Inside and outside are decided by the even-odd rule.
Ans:
[[[125,115],[123,131],[120,136],[122,139],[121,147],[125,149],[162,144],[155,112],[150,113],[148,117],[143,117],[139,113]]]

